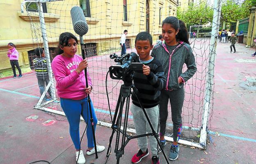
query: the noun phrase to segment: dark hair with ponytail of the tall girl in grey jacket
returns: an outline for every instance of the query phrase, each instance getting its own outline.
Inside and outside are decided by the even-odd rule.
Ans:
[[[186,42],[187,44],[190,44],[188,41],[188,33],[187,33],[187,28],[185,23],[182,20],[178,20],[174,16],[169,16],[165,18],[165,20],[162,21],[162,25],[168,23],[171,24],[171,26],[179,32],[176,35],[176,40],[177,41],[183,41]]]

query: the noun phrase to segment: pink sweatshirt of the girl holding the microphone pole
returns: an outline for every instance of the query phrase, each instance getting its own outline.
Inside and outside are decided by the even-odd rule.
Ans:
[[[85,70],[80,74],[75,71],[81,61],[82,57],[79,55],[74,55],[73,58],[57,55],[53,59],[52,69],[60,98],[81,100],[87,97],[85,93]],[[88,86],[92,86],[88,70],[87,81]]]

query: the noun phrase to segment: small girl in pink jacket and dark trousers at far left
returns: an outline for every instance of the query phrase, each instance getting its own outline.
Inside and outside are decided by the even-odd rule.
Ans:
[[[21,78],[22,77],[22,73],[21,73],[21,68],[20,68],[20,66],[18,64],[18,51],[16,50],[16,46],[13,43],[11,43],[11,42],[8,43],[7,46],[9,48],[9,50],[7,52],[7,56],[10,59],[11,68],[12,68],[12,71],[14,73],[14,77],[13,78],[17,78],[15,66],[16,66],[16,68],[19,71],[18,78]]]

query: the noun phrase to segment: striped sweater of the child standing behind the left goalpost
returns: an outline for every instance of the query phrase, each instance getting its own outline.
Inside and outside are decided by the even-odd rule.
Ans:
[[[34,71],[36,72],[38,78],[43,78],[44,76],[48,76],[46,58],[35,58],[33,60],[33,64],[34,64]]]

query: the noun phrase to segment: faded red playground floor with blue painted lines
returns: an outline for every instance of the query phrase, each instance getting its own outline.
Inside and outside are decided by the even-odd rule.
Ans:
[[[199,44],[199,43],[196,43]],[[181,146],[178,160],[170,163],[256,163],[256,111],[255,111],[255,90],[247,90],[240,87],[240,83],[246,80],[246,76],[256,77],[256,58],[250,57],[255,50],[245,48],[242,44],[235,44],[238,53],[229,53],[229,44],[218,43],[217,60],[215,62],[215,94],[214,108],[211,124],[208,125],[211,131],[226,134],[226,137],[211,135],[212,142],[207,145],[206,153],[202,150],[192,149],[188,146]],[[196,52],[199,50],[196,50]],[[201,54],[201,53],[200,53]],[[246,59],[238,62],[239,59]],[[198,59],[199,60],[199,59]],[[201,59],[202,60],[202,59]],[[98,109],[107,108],[107,99],[101,92],[105,92],[105,69],[99,69],[98,65],[106,62],[92,60],[89,70],[97,69],[101,75],[93,74],[94,92],[91,95],[94,106]],[[109,59],[106,59],[109,61]],[[241,61],[241,60],[240,60]],[[98,63],[98,64],[97,64]],[[108,68],[108,63],[104,68]],[[204,63],[203,63],[204,64]],[[198,66],[203,72],[203,66]],[[95,70],[94,70],[95,71]],[[94,72],[93,71],[93,72]],[[96,81],[98,84],[95,84]],[[191,80],[191,84],[201,83],[199,79]],[[108,78],[109,92],[116,83]],[[117,84],[120,86],[120,83]],[[99,86],[99,87],[98,87]],[[118,88],[118,86],[116,88]],[[186,88],[186,92],[190,90]],[[19,94],[20,93],[20,94]],[[24,93],[25,95],[21,95]],[[117,98],[119,91],[113,90],[111,98]],[[200,93],[196,93],[200,95]],[[36,96],[36,97],[33,97]],[[201,96],[195,96],[194,101],[201,100]],[[0,79],[0,163],[1,164],[28,164],[37,160],[47,160],[52,164],[75,164],[75,150],[69,136],[69,125],[64,117],[50,115],[46,112],[35,110],[39,89],[34,74],[26,74],[23,78]],[[200,98],[199,98],[200,97]],[[187,97],[187,100],[190,100]],[[113,110],[116,101],[111,102]],[[186,105],[186,103],[184,103]],[[54,104],[50,105],[51,107]],[[187,104],[189,106],[189,104]],[[58,107],[57,107],[58,108]],[[195,108],[196,109],[196,108]],[[184,115],[189,111],[183,111]],[[27,121],[26,117],[38,115],[35,121]],[[109,117],[102,114],[100,117]],[[47,120],[56,122],[50,126],[43,126]],[[198,119],[198,118],[195,118]],[[62,121],[59,121],[62,120]],[[193,124],[200,124],[196,120]],[[85,129],[85,123],[81,123],[80,131]],[[108,140],[112,130],[97,126],[97,142],[107,148]],[[62,138],[63,137],[63,138]],[[244,138],[242,138],[244,137]],[[246,140],[245,140],[246,139]],[[250,140],[250,141],[247,141]],[[115,141],[113,139],[113,141]],[[82,141],[82,148],[86,148],[86,137]],[[165,147],[168,155],[170,144]],[[121,164],[129,164],[134,153],[137,152],[137,140],[131,140],[125,148],[125,155],[121,158]],[[87,156],[87,164],[104,164],[106,151],[99,153],[99,158]],[[142,164],[151,163],[151,155],[146,157]],[[164,157],[160,155],[161,163],[165,163]],[[107,162],[116,163],[114,153],[114,142],[112,143],[112,155]]]

